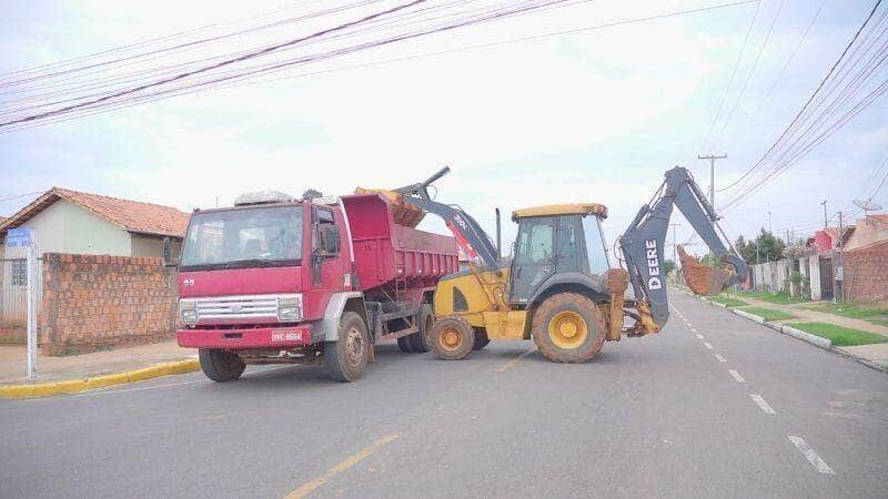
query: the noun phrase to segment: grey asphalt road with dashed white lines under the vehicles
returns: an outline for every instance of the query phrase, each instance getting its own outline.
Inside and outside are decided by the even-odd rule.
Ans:
[[[660,335],[585,365],[383,346],[353,384],[287,366],[0,401],[0,496],[888,497],[888,375],[672,298]]]

